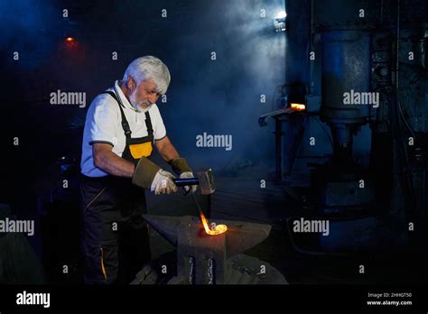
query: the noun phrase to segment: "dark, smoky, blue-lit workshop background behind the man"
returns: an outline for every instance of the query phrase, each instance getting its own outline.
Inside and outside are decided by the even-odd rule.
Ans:
[[[364,18],[358,16],[361,8]],[[282,10],[286,30],[275,32],[273,19]],[[210,199],[200,197],[210,217],[273,226],[248,254],[272,263],[290,283],[422,280],[412,262],[421,260],[427,225],[427,16],[423,0],[0,2],[0,203],[11,210],[6,216],[35,220],[36,235],[28,237],[25,250],[33,250],[30,258],[42,267],[41,276],[22,281],[79,282],[77,174],[86,112],[93,97],[144,55],[163,60],[172,75],[167,103],[158,101],[172,143],[193,169],[214,171],[217,191]],[[331,42],[346,41],[341,32],[348,31],[370,41],[355,43],[368,69],[349,81],[384,88],[382,107],[391,108],[367,113],[352,128],[353,159],[371,184],[370,193],[357,196],[351,192],[354,180],[347,181],[350,188],[337,189],[319,179],[336,141],[329,115],[322,116],[330,108],[323,102],[330,99],[321,84],[329,79],[325,67],[343,53],[357,60],[355,51],[328,51],[323,42],[330,32],[337,36]],[[408,51],[414,60],[407,60]],[[397,92],[391,92],[396,60],[403,65]],[[86,92],[86,107],[51,105],[50,94],[58,89]],[[269,115],[267,125],[259,125],[261,115],[282,109],[292,97],[306,104],[307,115]],[[282,129],[275,135],[278,124]],[[203,133],[232,135],[232,150],[197,147],[196,136]],[[416,144],[406,147],[403,139],[412,133]],[[315,146],[309,144],[312,136]],[[169,170],[158,155],[155,160]],[[322,193],[334,194],[330,199],[338,204],[327,204]],[[148,196],[148,204],[154,214],[196,215],[180,193]],[[330,236],[293,238],[291,217],[330,219]],[[409,222],[420,232],[414,240]],[[154,256],[172,250],[155,233],[152,241]],[[67,275],[64,264],[70,265]],[[367,266],[366,276],[358,273],[360,264]]]

